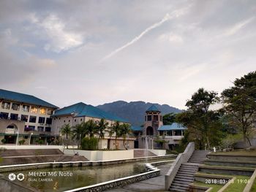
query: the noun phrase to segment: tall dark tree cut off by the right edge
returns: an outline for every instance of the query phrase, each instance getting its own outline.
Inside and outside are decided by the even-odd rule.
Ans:
[[[243,134],[245,146],[246,140],[251,146],[249,137],[256,116],[256,71],[236,79],[233,84],[233,87],[222,91],[223,109],[233,116],[233,125]]]

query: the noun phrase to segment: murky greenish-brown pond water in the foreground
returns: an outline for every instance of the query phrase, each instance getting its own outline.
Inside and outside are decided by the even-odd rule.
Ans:
[[[109,166],[31,169],[15,172],[15,174],[25,174],[25,180],[23,180],[22,183],[37,188],[39,191],[50,192],[66,191],[73,188],[94,185],[143,172],[146,172],[144,164],[135,163]],[[56,174],[56,176],[54,174]],[[64,176],[63,174],[66,175]],[[72,174],[72,176],[68,176],[67,174]],[[4,175],[7,177],[9,173],[4,173]]]

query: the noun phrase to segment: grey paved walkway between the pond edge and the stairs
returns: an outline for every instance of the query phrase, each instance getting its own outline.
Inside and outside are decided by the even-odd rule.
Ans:
[[[114,188],[109,190],[108,192],[165,191],[165,174],[167,174],[170,166],[171,164],[157,166],[157,168],[161,169],[160,176],[158,177],[153,177],[149,180],[143,180],[138,183],[126,185],[121,188]]]

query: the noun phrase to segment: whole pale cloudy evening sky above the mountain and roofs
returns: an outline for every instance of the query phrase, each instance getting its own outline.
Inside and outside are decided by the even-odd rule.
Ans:
[[[0,1],[0,88],[185,109],[256,69],[256,1]]]

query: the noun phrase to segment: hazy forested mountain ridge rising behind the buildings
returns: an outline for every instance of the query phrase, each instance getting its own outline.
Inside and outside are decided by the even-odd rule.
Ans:
[[[114,101],[112,103],[98,105],[97,107],[106,112],[111,112],[114,115],[118,115],[120,118],[129,120],[132,125],[140,126],[144,122],[144,115],[146,110],[151,107],[153,103],[146,103],[144,101]],[[167,104],[155,104],[156,107],[165,115],[170,112],[181,112],[175,107],[171,107]]]

